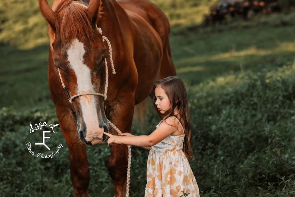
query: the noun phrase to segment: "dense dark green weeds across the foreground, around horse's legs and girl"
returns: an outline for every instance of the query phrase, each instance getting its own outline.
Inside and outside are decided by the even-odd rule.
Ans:
[[[287,189],[295,192],[291,159],[295,157],[294,79],[295,65],[286,64],[187,85],[195,155],[190,164],[202,196],[286,196]],[[53,159],[36,159],[26,150],[26,141],[40,139],[40,133],[29,133],[29,123],[57,123],[54,108],[38,106],[25,113],[2,108],[0,119],[1,128],[5,128],[0,143],[4,158],[0,165],[1,196],[73,196],[66,146]],[[147,121],[147,127],[132,127],[132,133],[153,131],[158,122],[154,111]],[[50,147],[66,144],[59,130],[51,137]],[[90,196],[114,195],[106,170],[109,147],[95,146],[87,152]],[[146,163],[142,161],[147,154],[132,147],[132,196],[144,192]]]

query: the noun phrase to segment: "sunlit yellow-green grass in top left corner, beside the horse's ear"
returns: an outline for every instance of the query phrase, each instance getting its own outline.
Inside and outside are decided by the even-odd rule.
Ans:
[[[53,0],[48,3],[52,5]],[[0,16],[0,43],[30,49],[49,42],[38,1],[0,1]]]

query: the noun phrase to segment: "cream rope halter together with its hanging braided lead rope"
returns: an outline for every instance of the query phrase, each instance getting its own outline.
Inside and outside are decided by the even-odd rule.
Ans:
[[[75,4],[79,4],[79,3],[75,3]],[[87,8],[87,6],[85,6],[83,4],[79,4],[79,5]],[[97,27],[97,25],[96,25],[96,28],[99,31],[99,33],[102,35],[101,28]],[[116,74],[115,67],[114,67],[114,62],[113,62],[113,57],[112,57],[111,43],[110,43],[109,39],[107,39],[105,36],[102,36],[102,41],[106,41],[108,46],[109,46],[109,57],[110,57],[110,62],[111,62],[111,67],[112,67],[112,74]],[[61,78],[60,69],[58,69],[60,82],[61,82],[61,84],[63,86],[63,89],[65,90],[65,93],[66,93],[70,103],[73,104],[73,99],[75,97],[79,97],[79,96],[82,96],[82,95],[98,95],[98,96],[104,97],[104,100],[106,100],[106,93],[107,93],[108,85],[109,85],[109,71],[108,71],[108,64],[106,62],[106,58],[104,58],[104,63],[106,65],[106,84],[104,86],[104,94],[89,92],[89,93],[76,94],[76,95],[73,95],[72,97],[70,97],[70,94],[69,94],[68,90],[66,89],[65,84],[63,83],[63,79]],[[114,128],[117,131],[117,133],[122,133],[111,121],[108,120],[108,123],[109,123],[110,126],[112,126],[112,128]],[[128,197],[129,196],[129,187],[130,187],[131,147],[130,147],[130,145],[127,145],[127,147],[128,147],[128,165],[127,165],[127,179],[126,179],[126,182],[127,182],[126,183],[126,196]]]

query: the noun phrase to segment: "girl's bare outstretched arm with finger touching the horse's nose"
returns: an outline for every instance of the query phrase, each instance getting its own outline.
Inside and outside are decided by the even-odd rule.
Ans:
[[[166,119],[168,120],[168,119]],[[172,123],[171,125],[170,122]],[[160,141],[165,139],[171,133],[176,131],[176,127],[174,125],[174,121],[169,121],[167,124],[165,121],[160,124],[160,126],[153,131],[148,136],[114,136],[109,133],[105,133],[105,135],[109,136],[108,145],[110,144],[126,144],[133,146],[141,146],[141,147],[151,147],[155,144],[158,144]]]

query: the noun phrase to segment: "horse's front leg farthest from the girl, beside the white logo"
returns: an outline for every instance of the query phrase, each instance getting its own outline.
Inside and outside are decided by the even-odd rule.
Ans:
[[[87,163],[86,144],[78,137],[76,118],[72,114],[59,114],[60,129],[67,141],[71,164],[71,180],[75,196],[88,196],[90,170]],[[64,109],[60,109],[64,111]]]

